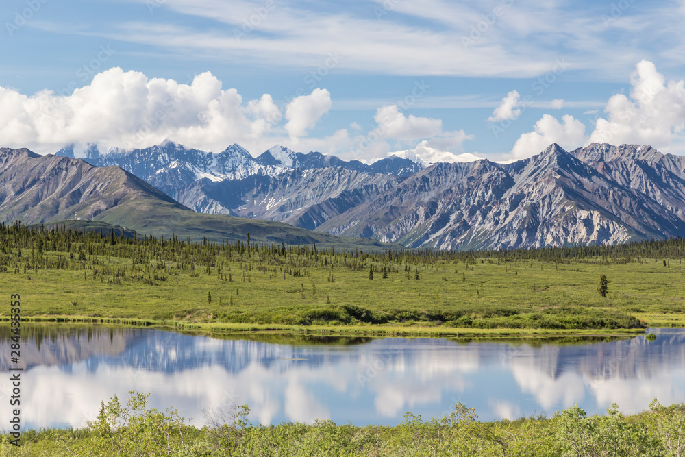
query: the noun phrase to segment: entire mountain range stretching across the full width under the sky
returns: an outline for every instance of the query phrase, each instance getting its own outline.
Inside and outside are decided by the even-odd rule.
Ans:
[[[74,155],[73,148],[57,154]],[[434,249],[685,236],[685,158],[643,145],[593,143],[565,151],[553,144],[510,164],[477,160],[425,166],[398,157],[371,165],[347,162],[280,146],[253,158],[239,145],[215,154],[166,141],[104,154],[91,146],[84,157],[88,164],[69,159],[75,167],[69,173],[57,166],[66,158],[9,149],[1,156],[0,218],[5,221],[55,221],[77,211],[149,232],[159,221],[142,221],[151,206],[158,206],[155,214],[189,214],[190,209],[197,215],[193,218],[286,222],[281,227],[303,230],[293,235],[302,240],[335,235]],[[8,157],[45,164],[8,174]],[[52,177],[48,182],[46,173]],[[77,177],[84,184],[75,186]],[[147,210],[136,212],[139,206]]]

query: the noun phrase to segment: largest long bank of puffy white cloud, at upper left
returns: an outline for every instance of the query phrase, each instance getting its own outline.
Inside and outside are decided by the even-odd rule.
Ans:
[[[113,68],[71,95],[0,87],[0,144],[47,153],[71,143],[132,148],[164,138],[213,151],[258,143],[279,121],[279,108],[270,95],[244,106],[236,89],[221,86],[211,73],[179,84]]]

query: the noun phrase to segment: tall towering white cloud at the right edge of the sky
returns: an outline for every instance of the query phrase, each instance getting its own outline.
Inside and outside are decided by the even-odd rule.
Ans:
[[[632,143],[668,150],[685,131],[685,82],[666,81],[652,62],[636,65],[630,97],[614,95],[599,118],[591,141]]]

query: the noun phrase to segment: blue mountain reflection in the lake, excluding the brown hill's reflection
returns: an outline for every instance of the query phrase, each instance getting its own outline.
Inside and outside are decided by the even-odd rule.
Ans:
[[[312,369],[340,362],[365,365],[379,357],[391,369],[475,365],[512,365],[544,374],[553,379],[562,373],[577,373],[587,380],[607,378],[651,378],[664,367],[685,366],[685,332],[663,330],[656,341],[643,336],[619,341],[579,345],[478,343],[458,345],[441,339],[388,338],[353,347],[330,345],[274,345],[259,341],[221,341],[206,337],[148,331],[147,338],[134,338],[116,358],[106,358],[108,365],[126,365],[138,369],[173,373],[208,365],[221,365],[230,373],[239,373],[251,364],[287,371],[297,360]],[[91,358],[89,369],[96,369],[103,358]]]

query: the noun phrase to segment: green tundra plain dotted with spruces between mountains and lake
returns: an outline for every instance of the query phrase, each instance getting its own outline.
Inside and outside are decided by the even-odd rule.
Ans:
[[[24,319],[214,331],[437,335],[682,326],[684,256],[681,239],[515,251],[338,251],[257,244],[249,235],[213,243],[0,225],[0,286],[22,295]],[[610,287],[601,288],[601,277]],[[8,313],[0,308],[0,319]]]

